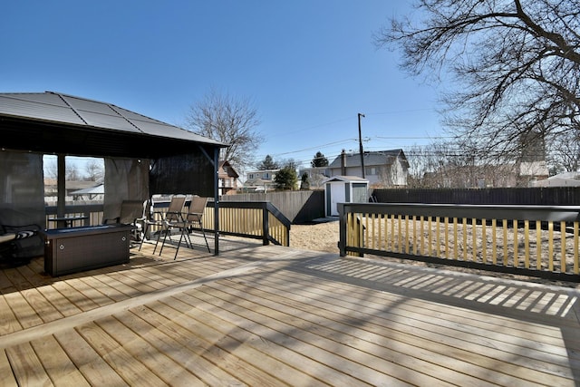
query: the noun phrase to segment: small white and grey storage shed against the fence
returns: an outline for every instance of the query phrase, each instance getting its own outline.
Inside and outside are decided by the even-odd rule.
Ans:
[[[325,179],[324,203],[327,217],[338,217],[338,203],[366,203],[369,180],[358,176],[333,176]]]

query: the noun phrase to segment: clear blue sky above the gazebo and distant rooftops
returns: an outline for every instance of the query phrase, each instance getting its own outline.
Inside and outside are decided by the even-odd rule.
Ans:
[[[2,6],[0,92],[63,92],[184,126],[214,88],[249,98],[256,160],[307,166],[443,136],[435,86],[402,73],[372,34],[405,0],[11,1]]]

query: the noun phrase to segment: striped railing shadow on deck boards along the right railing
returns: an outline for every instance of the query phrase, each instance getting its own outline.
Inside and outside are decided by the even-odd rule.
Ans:
[[[348,264],[345,265],[344,261]],[[360,258],[319,258],[300,268],[304,273],[331,276],[334,280],[373,290],[472,309],[478,309],[480,305],[485,307],[486,313],[515,314],[517,318],[530,318],[532,321],[536,319],[527,316],[537,314],[573,319],[574,324],[578,323],[575,305],[580,291],[560,286]]]

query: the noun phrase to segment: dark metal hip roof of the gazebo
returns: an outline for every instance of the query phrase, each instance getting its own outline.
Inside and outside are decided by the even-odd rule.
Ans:
[[[156,158],[192,143],[227,144],[120,108],[59,92],[0,93],[0,145],[81,156]]]

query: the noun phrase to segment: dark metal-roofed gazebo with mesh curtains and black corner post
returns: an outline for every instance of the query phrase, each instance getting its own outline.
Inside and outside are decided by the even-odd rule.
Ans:
[[[104,217],[123,199],[187,193],[216,203],[227,144],[107,102],[59,92],[0,93],[0,222],[43,224],[43,155],[57,155],[57,215],[64,215],[65,156],[105,161]]]

